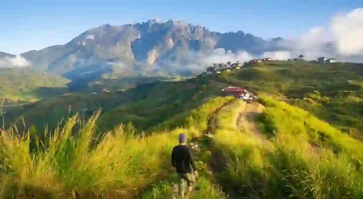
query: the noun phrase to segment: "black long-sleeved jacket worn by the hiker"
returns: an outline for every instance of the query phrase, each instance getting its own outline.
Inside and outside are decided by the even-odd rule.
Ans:
[[[177,173],[190,173],[191,167],[196,171],[192,152],[187,145],[177,145],[171,153],[171,163]]]

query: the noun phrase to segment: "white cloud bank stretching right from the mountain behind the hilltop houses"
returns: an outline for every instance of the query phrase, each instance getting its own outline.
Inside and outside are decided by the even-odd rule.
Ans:
[[[284,39],[278,45],[286,50],[268,51],[260,55],[252,55],[246,51],[232,53],[223,48],[208,53],[193,52],[190,60],[196,61],[189,64],[189,67],[236,60],[246,62],[266,57],[287,60],[300,54],[307,60],[325,56],[337,58],[342,62],[363,62],[363,8],[338,13],[331,17],[328,25],[312,27],[305,34],[293,39]]]

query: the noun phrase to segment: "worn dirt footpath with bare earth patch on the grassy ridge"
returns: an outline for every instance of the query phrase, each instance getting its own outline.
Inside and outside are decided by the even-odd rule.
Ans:
[[[241,100],[235,98],[231,101],[228,101],[209,114],[207,129],[203,132],[203,136],[195,137],[189,143],[191,146],[197,146],[197,150],[193,148],[195,160],[205,161],[204,163],[207,167],[207,172],[204,172],[207,173],[205,176],[207,176],[209,181],[211,181],[212,184],[216,186],[216,189],[220,189],[221,192],[224,193],[225,198],[241,198],[242,195],[238,190],[234,190],[233,188],[229,187],[228,184],[219,180],[219,174],[225,170],[227,160],[222,149],[220,147],[216,147],[215,141],[213,139],[215,131],[220,128],[219,118],[225,117],[224,115],[221,115],[223,114],[223,110],[228,109],[229,105],[232,105],[237,101]],[[236,109],[233,107],[234,115],[231,120],[232,126],[236,128],[236,130],[243,128],[246,133],[248,132],[248,134],[251,134],[251,136],[256,136],[257,140],[263,140],[262,136],[260,136],[260,130],[253,122],[253,118],[256,117],[257,114],[262,113],[264,106],[258,102],[242,102],[241,104],[242,105],[239,105]],[[209,160],[203,158],[203,154],[205,153],[210,154],[211,158]],[[176,185],[173,186],[173,191],[176,196],[176,193],[178,192],[178,187]],[[190,198],[193,198],[193,194],[196,192],[197,191],[194,190]]]

